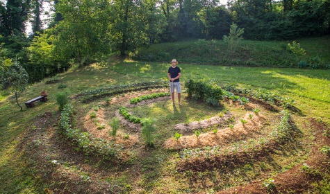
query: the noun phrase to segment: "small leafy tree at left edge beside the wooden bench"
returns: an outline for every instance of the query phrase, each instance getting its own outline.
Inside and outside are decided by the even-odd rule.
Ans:
[[[10,91],[15,94],[17,105],[23,111],[18,103],[18,94],[28,87],[28,73],[26,73],[24,67],[20,66],[16,60],[1,58],[0,81],[2,85],[9,85]]]

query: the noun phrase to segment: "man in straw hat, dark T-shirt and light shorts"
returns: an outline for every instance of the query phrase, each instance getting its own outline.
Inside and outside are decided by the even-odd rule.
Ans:
[[[181,85],[180,85],[180,80],[179,78],[181,77],[181,70],[179,67],[176,67],[176,64],[178,64],[178,62],[176,62],[176,60],[172,60],[172,67],[170,67],[168,69],[168,73],[167,76],[170,79],[170,89],[171,89],[171,97],[172,97],[172,105],[174,105],[174,88],[176,88],[176,92],[178,93],[178,101],[179,101],[179,105],[181,105],[180,103],[180,99],[181,99]]]

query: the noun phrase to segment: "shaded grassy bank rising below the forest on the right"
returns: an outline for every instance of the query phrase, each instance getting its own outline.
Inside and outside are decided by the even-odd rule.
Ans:
[[[247,66],[296,67],[297,59],[290,51],[288,43],[295,41],[306,50],[302,58],[307,67],[312,67],[320,59],[320,67],[330,68],[330,36],[299,38],[291,41],[251,41],[242,40],[233,55],[232,63]],[[134,60],[161,62],[173,58],[179,62],[229,64],[229,51],[222,40],[183,40],[181,42],[154,44],[149,48],[139,48],[130,53]]]

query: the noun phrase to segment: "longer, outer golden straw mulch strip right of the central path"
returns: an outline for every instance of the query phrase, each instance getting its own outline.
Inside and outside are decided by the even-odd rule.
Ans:
[[[254,115],[252,119],[249,118],[249,114]],[[229,127],[218,130],[216,134],[214,132],[208,132],[205,134],[201,134],[198,138],[195,135],[190,136],[182,136],[178,141],[174,138],[167,139],[164,143],[165,148],[169,149],[182,149],[182,148],[202,148],[204,146],[216,146],[216,145],[226,145],[232,139],[240,139],[242,135],[247,135],[254,133],[261,129],[263,123],[265,123],[265,116],[262,114],[254,114],[253,112],[248,112],[243,116],[243,118],[247,123],[242,125],[236,123],[231,130]]]

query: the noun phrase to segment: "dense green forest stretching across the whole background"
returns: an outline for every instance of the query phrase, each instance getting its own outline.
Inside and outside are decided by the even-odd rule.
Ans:
[[[89,64],[110,53],[185,38],[222,39],[231,24],[251,40],[329,34],[329,0],[62,0],[42,28],[42,0],[0,2],[1,66],[19,62],[29,82]],[[33,33],[26,37],[26,22]]]

